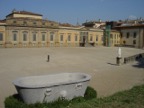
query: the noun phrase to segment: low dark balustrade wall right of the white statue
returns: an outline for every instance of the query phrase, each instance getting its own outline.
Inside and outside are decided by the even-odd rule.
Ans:
[[[130,57],[125,57],[124,58],[124,64],[127,64],[129,62],[133,62],[133,61],[138,61],[142,58],[144,58],[144,53],[136,54],[136,55],[133,55]]]

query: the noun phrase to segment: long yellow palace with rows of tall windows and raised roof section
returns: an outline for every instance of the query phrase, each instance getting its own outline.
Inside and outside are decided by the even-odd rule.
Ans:
[[[120,44],[120,33],[112,46]],[[118,34],[118,35],[117,35]],[[0,47],[79,47],[102,46],[104,30],[85,26],[59,24],[43,19],[41,14],[12,11],[0,20]]]

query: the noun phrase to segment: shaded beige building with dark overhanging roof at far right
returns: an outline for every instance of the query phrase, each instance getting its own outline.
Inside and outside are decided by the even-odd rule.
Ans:
[[[144,48],[144,24],[123,24],[116,27],[123,46]]]

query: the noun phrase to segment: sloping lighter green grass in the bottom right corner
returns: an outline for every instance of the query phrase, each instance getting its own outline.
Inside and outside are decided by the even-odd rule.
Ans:
[[[109,97],[72,104],[69,108],[144,108],[144,85]]]

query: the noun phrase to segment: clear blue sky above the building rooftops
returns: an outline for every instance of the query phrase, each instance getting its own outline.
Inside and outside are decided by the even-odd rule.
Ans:
[[[144,0],[0,0],[0,19],[17,11],[30,11],[52,21],[79,24],[86,20],[144,18]]]

